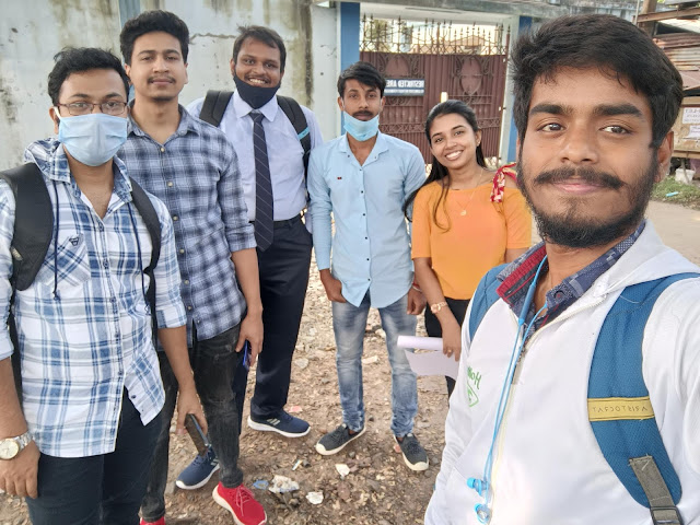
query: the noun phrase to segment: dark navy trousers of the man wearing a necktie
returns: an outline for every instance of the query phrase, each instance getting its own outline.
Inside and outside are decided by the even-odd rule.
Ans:
[[[260,299],[265,339],[258,355],[255,393],[250,399],[250,416],[269,419],[287,405],[292,373],[292,354],[302,322],[308,267],[311,234],[301,219],[275,224],[275,238],[265,252],[258,249]],[[233,389],[241,413],[247,373],[235,377]],[[219,454],[219,450],[217,454]]]

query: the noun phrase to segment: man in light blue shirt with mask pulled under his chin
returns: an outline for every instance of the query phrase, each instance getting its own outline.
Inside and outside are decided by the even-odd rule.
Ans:
[[[314,249],[332,301],[343,420],[318,441],[316,451],[336,454],[364,432],[361,358],[368,313],[374,306],[392,365],[392,432],[406,465],[425,470],[428,456],[412,433],[416,374],[397,347],[399,335],[416,334],[416,315],[425,306],[411,287],[410,236],[401,211],[406,198],[423,184],[425,164],[418,148],[378,131],[385,86],[382,74],[366,62],[340,74],[338,105],[347,132],[316,148],[308,165]]]

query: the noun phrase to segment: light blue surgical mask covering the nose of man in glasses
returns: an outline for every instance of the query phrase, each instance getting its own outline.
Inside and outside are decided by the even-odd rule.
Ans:
[[[127,119],[91,113],[59,118],[58,141],[70,156],[88,166],[100,166],[109,161],[127,141]]]

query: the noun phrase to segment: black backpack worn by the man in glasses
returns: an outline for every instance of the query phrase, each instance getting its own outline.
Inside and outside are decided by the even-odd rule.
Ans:
[[[0,172],[0,178],[8,183],[14,194],[15,201],[14,232],[10,245],[12,254],[10,283],[12,284],[11,301],[13,301],[15,290],[22,291],[30,288],[44,264],[54,234],[54,210],[51,209],[51,199],[44,182],[44,175],[36,164],[27,163],[13,170]],[[153,269],[161,256],[161,222],[151,199],[133,179],[131,179],[131,197],[136,209],[145,223],[153,246],[151,261],[143,269],[143,272],[149,276],[149,289],[145,299],[151,307],[153,337],[155,337],[158,325],[155,320],[155,280],[153,279]],[[15,348],[15,352],[12,354],[14,380],[18,392],[21,392],[19,353],[16,351],[18,337],[12,311],[8,316],[8,326],[10,338]]]

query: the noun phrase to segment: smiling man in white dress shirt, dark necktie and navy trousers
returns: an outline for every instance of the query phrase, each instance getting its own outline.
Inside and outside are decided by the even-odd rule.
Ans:
[[[307,133],[312,148],[322,144],[323,139],[316,117],[308,108],[290,98],[280,103],[276,96],[284,77],[285,59],[284,43],[277,32],[261,26],[241,27],[230,62],[236,90],[230,96],[220,122],[213,124],[221,128],[236,150],[248,219],[256,224],[258,240],[265,338],[258,358],[248,427],[299,438],[308,433],[308,423],[284,411],[284,405],[308,284],[312,248],[312,236],[302,221],[302,211],[306,207],[306,174],[301,139]],[[282,108],[284,102],[295,106],[298,114],[303,113],[306,132],[295,130]],[[195,101],[187,109],[207,120],[205,98]],[[256,127],[260,130],[257,133]],[[260,136],[264,142],[260,142]],[[258,148],[261,143],[266,150],[262,154]],[[260,182],[261,173],[269,177],[271,202],[261,203],[259,200],[259,188],[264,184]],[[264,219],[261,207],[268,210],[270,205],[271,235],[267,232],[268,237],[264,238],[258,235],[258,223]],[[246,378],[246,375],[238,374],[234,381],[238,413],[243,413]],[[199,466],[202,476],[215,468],[215,459]],[[191,485],[197,483],[191,479],[198,478],[180,476],[177,485],[195,488]]]

